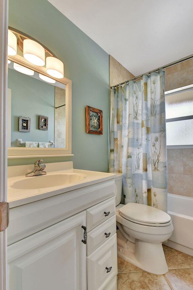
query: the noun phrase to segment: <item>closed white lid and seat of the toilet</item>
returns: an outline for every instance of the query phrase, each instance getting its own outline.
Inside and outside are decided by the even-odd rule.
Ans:
[[[125,219],[141,224],[163,225],[171,221],[169,214],[141,203],[127,203],[119,209]]]

